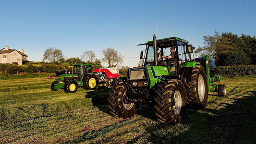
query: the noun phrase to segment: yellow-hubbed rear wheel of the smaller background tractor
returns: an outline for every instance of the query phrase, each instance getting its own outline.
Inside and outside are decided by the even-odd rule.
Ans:
[[[89,74],[83,81],[83,88],[85,90],[95,90],[97,88],[98,79],[95,75]]]

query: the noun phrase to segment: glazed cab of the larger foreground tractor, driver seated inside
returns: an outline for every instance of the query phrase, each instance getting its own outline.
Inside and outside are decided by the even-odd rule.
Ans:
[[[191,61],[191,53],[193,53],[192,45],[188,45],[188,41],[179,37],[169,37],[154,41],[148,41],[145,44],[146,49],[141,51],[140,59],[143,59],[143,67],[150,66],[167,66],[169,72],[176,72],[177,67],[183,62]],[[156,49],[154,49],[156,47]],[[168,58],[171,55],[171,48],[174,48],[174,58]],[[143,56],[143,52],[145,55]],[[163,56],[166,56],[163,58]],[[174,74],[174,73],[173,73]]]

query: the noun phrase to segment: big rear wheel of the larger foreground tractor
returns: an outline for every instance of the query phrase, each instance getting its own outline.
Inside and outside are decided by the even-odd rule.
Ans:
[[[207,104],[208,89],[206,71],[202,66],[195,66],[188,88],[188,99],[192,105],[204,108]]]

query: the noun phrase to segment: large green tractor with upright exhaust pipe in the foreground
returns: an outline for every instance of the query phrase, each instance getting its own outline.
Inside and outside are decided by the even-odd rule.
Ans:
[[[157,40],[154,35],[153,41],[138,46],[141,45],[146,45],[140,55],[142,67],[129,69],[127,77],[109,92],[108,106],[114,117],[132,117],[139,103],[147,103],[154,106],[160,122],[179,123],[187,104],[200,108],[207,105],[210,84],[211,88],[218,85],[222,88],[220,76],[216,76],[218,82],[214,78],[209,81],[207,59],[200,59],[205,60],[205,67],[200,60],[194,59],[195,48],[187,40],[178,37]],[[171,48],[174,48],[175,57],[163,57],[170,54]]]

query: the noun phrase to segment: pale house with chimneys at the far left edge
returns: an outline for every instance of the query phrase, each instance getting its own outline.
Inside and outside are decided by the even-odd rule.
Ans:
[[[24,50],[18,51],[16,49],[9,49],[9,47],[4,47],[0,49],[0,63],[14,63],[14,64],[24,64],[28,63],[27,55],[24,54]]]

